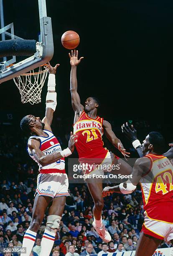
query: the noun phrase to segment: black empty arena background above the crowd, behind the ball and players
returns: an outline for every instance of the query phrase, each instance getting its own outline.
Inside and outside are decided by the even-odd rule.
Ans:
[[[4,0],[5,25],[14,22],[15,34],[38,40],[39,16],[36,0]],[[69,92],[68,50],[61,45],[67,30],[79,33],[77,70],[81,102],[92,95],[101,101],[99,115],[109,120],[122,140],[120,125],[126,120],[137,124],[141,138],[148,131],[161,131],[172,141],[170,89],[173,84],[173,2],[165,0],[47,0],[52,18],[54,56],[60,63],[56,75],[58,105],[54,131],[61,135],[61,122],[71,130],[73,111]],[[18,59],[19,60],[19,59]],[[0,131],[12,123],[15,131],[23,115],[43,117],[42,102],[23,105],[13,80],[0,84]],[[12,114],[12,119],[9,115]],[[59,123],[57,125],[57,123]],[[71,123],[71,124],[70,124]],[[64,129],[64,128],[63,128]],[[126,142],[125,142],[126,143]]]

